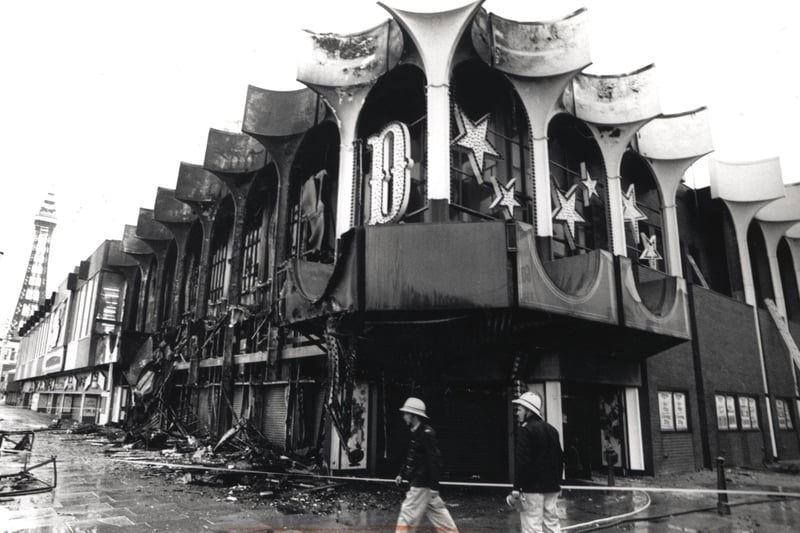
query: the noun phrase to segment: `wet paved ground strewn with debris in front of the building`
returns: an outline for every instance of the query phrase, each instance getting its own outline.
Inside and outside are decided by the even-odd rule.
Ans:
[[[48,415],[0,406],[0,429],[41,428],[51,421]],[[37,432],[31,461],[57,455],[58,486],[45,494],[0,497],[0,531],[393,531],[403,498],[402,491],[392,485],[375,484],[365,492],[380,494],[385,505],[367,505],[364,499],[352,497],[359,489],[337,489],[343,492],[335,512],[314,514],[313,500],[300,498],[298,504],[305,505],[301,510],[306,512],[283,514],[268,499],[240,496],[229,501],[229,495],[236,494],[230,487],[182,484],[178,481],[181,472],[113,461],[102,453],[97,440],[96,435]],[[19,460],[0,457],[0,471],[18,469]],[[50,481],[49,472],[41,475]],[[800,476],[741,471],[731,476],[729,488],[800,491]],[[617,483],[713,487],[714,477],[712,472],[700,472],[665,479],[618,479]],[[505,506],[506,492],[445,488],[442,496],[462,532],[517,532],[519,518]],[[731,516],[721,517],[714,511],[716,497],[712,495],[564,491],[562,496],[559,515],[566,531],[800,530],[798,500],[738,505],[765,498],[732,497]],[[611,523],[603,521],[642,508]]]

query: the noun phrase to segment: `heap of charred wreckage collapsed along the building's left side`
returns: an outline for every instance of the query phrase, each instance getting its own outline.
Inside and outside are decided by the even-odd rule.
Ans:
[[[235,315],[239,315],[238,320],[234,318]],[[247,320],[241,320],[242,316]],[[355,350],[350,347],[348,339],[338,333],[336,320],[328,320],[324,339],[308,336],[327,354],[327,378],[319,397],[324,414],[317,419],[315,438],[306,446],[295,449],[288,446],[288,434],[293,431],[294,425],[304,424],[302,420],[296,420],[304,416],[303,406],[307,403],[303,397],[303,387],[299,385],[299,372],[296,372],[294,379],[288,380],[285,401],[289,406],[286,408],[284,427],[287,445],[282,446],[259,429],[250,405],[242,406],[241,401],[234,405],[230,387],[226,388],[222,383],[222,372],[213,372],[213,367],[207,370],[206,362],[214,359],[211,354],[224,343],[225,330],[242,322],[255,324],[256,319],[260,320],[252,328],[255,330],[252,335],[256,338],[254,344],[271,345],[279,342],[271,326],[264,328],[268,317],[251,317],[247,309],[235,306],[215,319],[195,323],[184,320],[179,328],[162,330],[146,342],[123,372],[132,393],[124,422],[125,443],[146,449],[170,446],[180,450],[210,446],[214,452],[250,449],[264,457],[276,454],[280,457],[291,451],[294,453],[289,455],[323,471],[328,466],[323,459],[323,450],[325,429],[329,422],[347,460],[351,464],[361,461],[365,452],[358,446],[357,439],[351,439],[354,433],[353,415],[358,410],[353,400]],[[198,322],[202,327],[198,328]],[[268,354],[274,354],[275,351],[271,346],[266,350]],[[267,357],[263,375],[270,373],[274,366],[275,362]],[[187,371],[181,372],[184,369]],[[212,401],[212,396],[206,394],[206,403],[201,405],[204,388],[211,388],[216,398]],[[201,405],[202,415],[205,416],[197,412],[198,405]],[[270,407],[267,405],[262,409]],[[230,413],[231,424],[227,428],[220,424],[223,411]],[[355,445],[349,444],[353,442]]]

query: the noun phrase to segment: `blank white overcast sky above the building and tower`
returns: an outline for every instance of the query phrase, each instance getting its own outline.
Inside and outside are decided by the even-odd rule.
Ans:
[[[447,6],[455,0],[390,0]],[[488,0],[517,20],[589,8],[593,73],[655,63],[662,111],[709,108],[725,161],[780,156],[800,181],[800,4],[790,0]],[[298,87],[301,29],[353,32],[387,18],[370,1],[0,2],[0,321],[10,318],[33,217],[56,194],[49,290],[103,239],[202,163],[208,128],[239,131],[248,84]],[[698,166],[705,167],[701,161]],[[702,185],[703,168],[689,182]],[[0,332],[2,334],[4,332]]]

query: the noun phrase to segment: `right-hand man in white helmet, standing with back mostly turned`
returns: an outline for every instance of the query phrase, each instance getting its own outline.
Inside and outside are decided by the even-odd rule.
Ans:
[[[542,418],[542,397],[526,392],[516,400],[517,442],[514,490],[506,498],[519,510],[522,533],[558,533],[556,501],[561,491],[564,452],[556,428]]]

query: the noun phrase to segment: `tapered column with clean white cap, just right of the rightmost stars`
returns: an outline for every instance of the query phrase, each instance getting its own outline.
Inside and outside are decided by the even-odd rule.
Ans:
[[[713,150],[706,108],[652,120],[636,133],[635,145],[650,163],[661,196],[666,272],[683,277],[675,196],[689,167]]]

